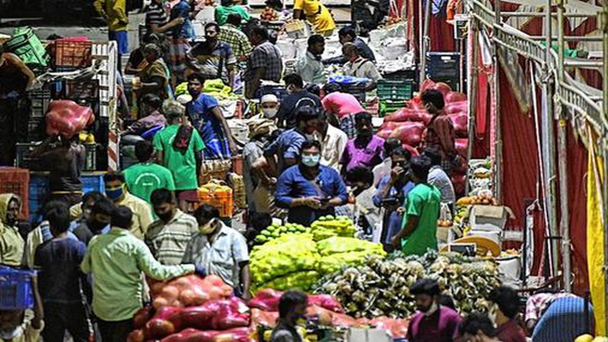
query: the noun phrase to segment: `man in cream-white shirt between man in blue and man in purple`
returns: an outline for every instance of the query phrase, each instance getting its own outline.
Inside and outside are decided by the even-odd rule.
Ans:
[[[321,165],[340,172],[340,160],[348,144],[348,136],[339,128],[330,125],[325,113],[321,114],[319,128],[314,133],[322,145]]]

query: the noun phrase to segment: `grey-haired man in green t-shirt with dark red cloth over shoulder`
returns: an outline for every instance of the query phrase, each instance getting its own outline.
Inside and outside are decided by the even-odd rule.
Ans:
[[[184,111],[184,106],[178,102],[165,103],[163,113],[167,117],[167,127],[154,136],[154,148],[157,161],[162,162],[173,174],[179,209],[190,213],[194,211],[193,203],[197,198],[201,152],[205,144],[197,130],[182,122],[182,118],[186,120]],[[180,130],[180,127],[183,128]],[[178,141],[174,142],[176,137]]]

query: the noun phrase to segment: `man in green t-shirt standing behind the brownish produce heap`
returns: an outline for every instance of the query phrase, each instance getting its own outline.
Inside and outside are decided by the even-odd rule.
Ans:
[[[427,183],[430,159],[416,156],[410,159],[409,177],[416,186],[406,198],[403,229],[392,237],[395,249],[401,248],[406,254],[423,255],[427,249],[437,250],[437,219],[441,192]]]

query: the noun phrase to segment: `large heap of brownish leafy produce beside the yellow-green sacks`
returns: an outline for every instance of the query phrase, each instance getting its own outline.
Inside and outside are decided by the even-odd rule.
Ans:
[[[364,265],[323,277],[314,291],[336,296],[345,312],[357,318],[405,318],[415,310],[409,288],[420,277],[437,279],[461,313],[485,308],[485,298],[500,285],[493,261],[454,253],[439,257],[437,252],[422,257],[396,253],[384,260],[378,255],[368,256]]]

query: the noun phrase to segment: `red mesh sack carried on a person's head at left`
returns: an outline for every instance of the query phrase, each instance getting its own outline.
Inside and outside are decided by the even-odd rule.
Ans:
[[[95,114],[91,108],[71,100],[53,100],[46,113],[46,134],[72,138],[92,124]]]

